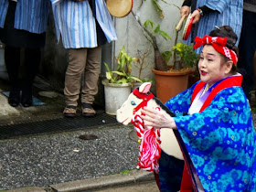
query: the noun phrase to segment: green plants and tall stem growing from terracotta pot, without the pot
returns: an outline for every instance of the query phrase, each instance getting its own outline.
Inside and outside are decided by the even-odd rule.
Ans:
[[[143,5],[144,1],[145,0],[142,1],[139,8]],[[164,18],[163,9],[158,4],[158,2],[160,1],[164,2],[167,5],[174,5],[174,4],[169,4],[165,0],[152,0],[153,5],[155,6],[156,12],[159,14],[160,18]],[[177,5],[174,5],[174,6],[180,9],[180,7],[178,7]],[[149,42],[151,42],[151,44],[154,47],[156,70],[162,70],[162,71],[169,70],[167,63],[172,56],[173,56],[173,62],[174,62],[173,69],[181,70],[187,67],[193,68],[194,66],[197,66],[198,56],[194,52],[192,46],[187,46],[184,43],[177,43],[178,31],[176,31],[174,48],[172,48],[171,50],[165,51],[163,53],[160,53],[155,37],[161,36],[161,37],[164,37],[165,40],[171,39],[171,37],[165,31],[161,30],[160,24],[158,24],[155,27],[155,23],[153,21],[146,20],[144,22],[144,25],[142,25],[140,21],[140,16],[134,14],[133,11],[132,11],[132,14],[136,19],[136,21],[138,22],[138,24],[143,28],[144,36]]]

